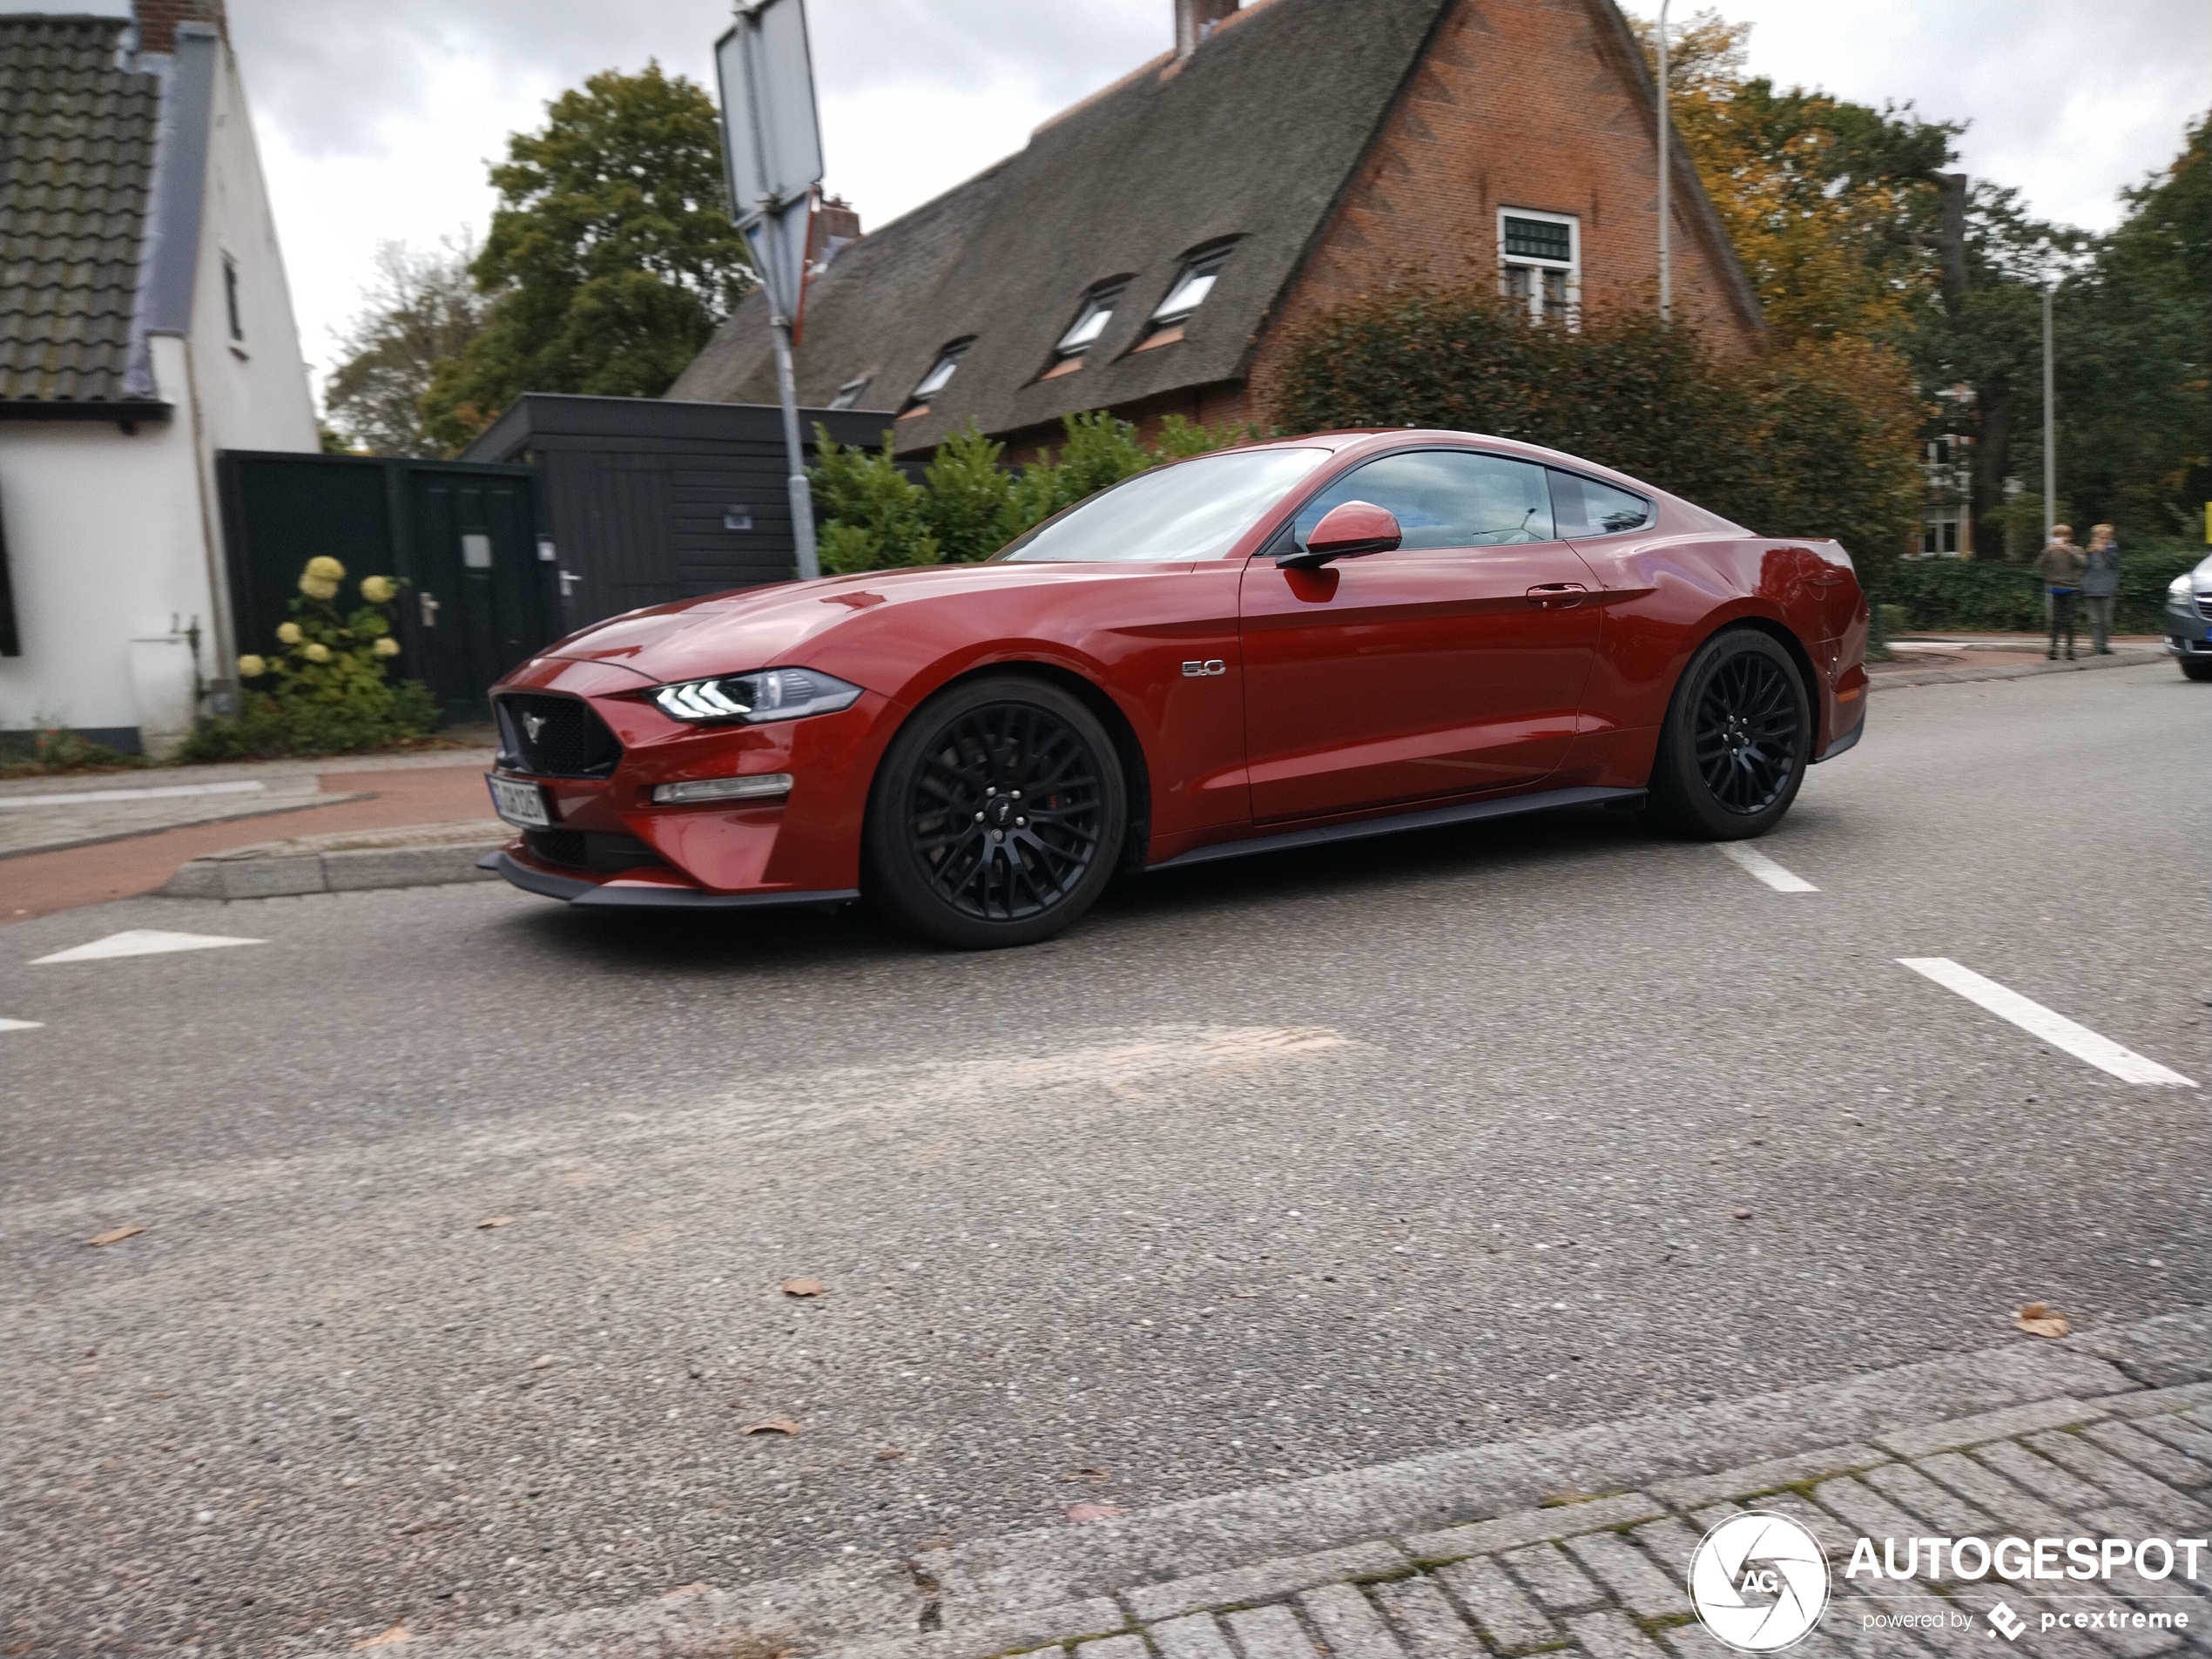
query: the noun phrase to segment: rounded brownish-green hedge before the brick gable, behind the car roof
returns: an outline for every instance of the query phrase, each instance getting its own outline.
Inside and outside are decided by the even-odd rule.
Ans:
[[[1865,341],[1721,358],[1655,312],[1533,325],[1489,288],[1358,299],[1292,343],[1287,431],[1447,427],[1564,449],[1761,535],[1836,538],[1891,562],[1920,522],[1924,416],[1905,365]]]

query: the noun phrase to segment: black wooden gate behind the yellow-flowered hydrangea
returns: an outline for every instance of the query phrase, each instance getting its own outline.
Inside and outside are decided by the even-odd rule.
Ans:
[[[487,719],[487,688],[564,633],[531,467],[226,449],[217,478],[241,653],[272,648],[319,553],[349,588],[365,575],[407,584],[396,666],[429,684],[447,721]]]

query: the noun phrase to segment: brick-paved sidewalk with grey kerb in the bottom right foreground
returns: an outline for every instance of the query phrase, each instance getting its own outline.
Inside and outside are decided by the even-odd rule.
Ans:
[[[1991,1646],[2000,1599],[2035,1632],[2024,1650],[2212,1655],[2212,1551],[2194,1582],[2179,1568],[2159,1584],[2121,1571],[2110,1590],[1845,1577],[1863,1535],[1876,1551],[1889,1535],[2212,1535],[2212,1310],[907,1562],[418,1637],[407,1652],[1723,1659],[1683,1582],[1697,1540],[1743,1506],[1792,1515],[1827,1548],[1834,1599],[1794,1648],[1809,1659],[1989,1659],[2011,1646]],[[2106,1610],[2093,1632],[2042,1630],[2046,1613],[2093,1606]],[[1931,1613],[1942,1617],[1922,1628]],[[2135,1613],[2174,1624],[2135,1628]]]

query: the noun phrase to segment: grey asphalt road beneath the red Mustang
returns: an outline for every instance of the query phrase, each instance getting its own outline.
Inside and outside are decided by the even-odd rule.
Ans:
[[[1816,894],[1593,812],[995,956],[504,887],[0,929],[0,1646],[345,1646],[2203,1303],[2212,1097],[1896,958],[2212,1082],[2212,688],[1871,721],[1759,843]],[[29,964],[124,929],[263,942]]]

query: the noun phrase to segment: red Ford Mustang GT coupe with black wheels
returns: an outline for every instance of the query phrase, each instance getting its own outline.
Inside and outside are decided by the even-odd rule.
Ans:
[[[1159,467],[984,564],[655,606],[493,688],[487,858],[577,905],[867,894],[1042,940],[1117,869],[1610,801],[1756,836],[1858,741],[1867,604],[1548,449],[1332,431]]]

